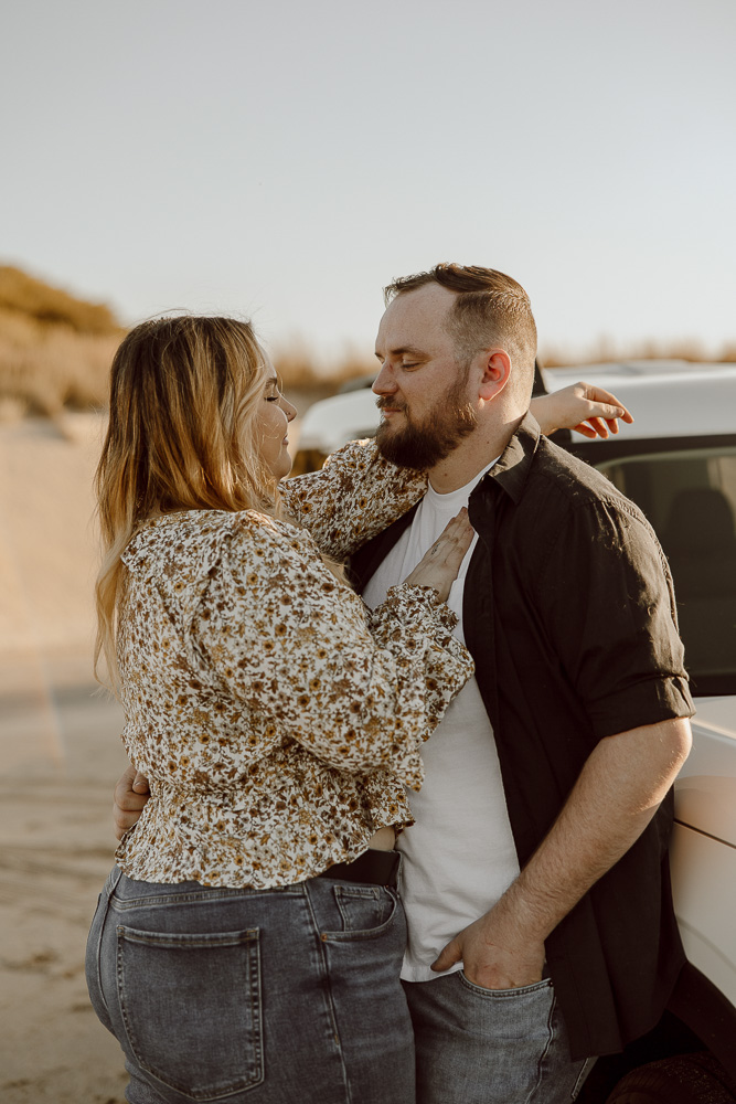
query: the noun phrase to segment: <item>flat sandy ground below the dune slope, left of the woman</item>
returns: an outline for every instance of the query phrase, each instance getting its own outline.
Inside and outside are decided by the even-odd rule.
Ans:
[[[87,656],[3,657],[0,1101],[122,1104],[117,1042],[87,999],[84,946],[113,864],[120,712]]]

